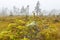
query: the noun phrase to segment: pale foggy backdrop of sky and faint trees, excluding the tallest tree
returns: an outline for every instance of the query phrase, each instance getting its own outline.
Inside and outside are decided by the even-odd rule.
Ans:
[[[41,14],[60,14],[60,0],[0,0],[0,15],[31,15],[38,1]]]

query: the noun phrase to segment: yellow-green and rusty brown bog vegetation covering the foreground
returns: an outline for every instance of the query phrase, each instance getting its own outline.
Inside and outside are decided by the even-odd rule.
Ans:
[[[0,17],[0,40],[60,40],[60,16]]]

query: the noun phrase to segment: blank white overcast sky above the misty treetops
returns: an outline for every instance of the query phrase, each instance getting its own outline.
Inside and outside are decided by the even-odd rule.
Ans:
[[[7,7],[12,9],[13,6],[21,8],[22,6],[30,5],[30,11],[32,11],[37,1],[40,1],[42,10],[60,9],[60,0],[0,0],[0,8]]]

